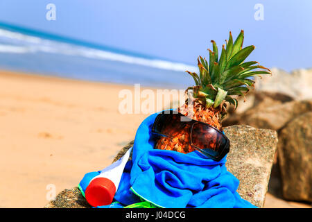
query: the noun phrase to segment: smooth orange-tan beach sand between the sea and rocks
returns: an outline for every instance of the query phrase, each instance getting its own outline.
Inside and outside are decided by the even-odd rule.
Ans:
[[[148,116],[119,112],[122,89],[134,86],[0,71],[0,207],[43,207],[107,167]],[[285,204],[266,200],[298,206]]]

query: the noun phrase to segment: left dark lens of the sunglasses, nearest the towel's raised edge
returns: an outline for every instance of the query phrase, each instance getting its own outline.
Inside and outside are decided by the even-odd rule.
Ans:
[[[189,127],[189,122],[181,121],[180,114],[159,114],[154,123],[153,131],[168,137],[175,137],[175,134]]]

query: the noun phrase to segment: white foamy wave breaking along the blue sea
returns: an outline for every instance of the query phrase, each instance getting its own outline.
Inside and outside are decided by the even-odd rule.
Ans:
[[[186,65],[182,62],[171,62],[167,60],[129,56],[112,51],[93,49],[87,46],[47,40],[42,37],[25,35],[23,33],[8,31],[0,28],[0,42],[1,40],[2,43],[3,40],[5,40],[4,42],[6,43],[14,42],[14,44],[0,44],[0,53],[59,53],[67,56],[81,56],[97,60],[112,60],[171,71],[197,70],[196,67]]]

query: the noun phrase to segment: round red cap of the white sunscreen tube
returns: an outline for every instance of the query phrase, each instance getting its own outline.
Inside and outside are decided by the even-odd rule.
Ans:
[[[116,193],[116,186],[107,178],[95,178],[85,190],[85,198],[92,207],[110,205]]]

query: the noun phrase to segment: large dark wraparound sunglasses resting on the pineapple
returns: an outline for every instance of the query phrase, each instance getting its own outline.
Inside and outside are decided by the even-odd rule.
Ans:
[[[214,126],[177,112],[163,111],[157,115],[152,133],[173,139],[181,132],[187,133],[188,138],[184,141],[189,146],[213,160],[220,161],[229,153],[229,139]]]

